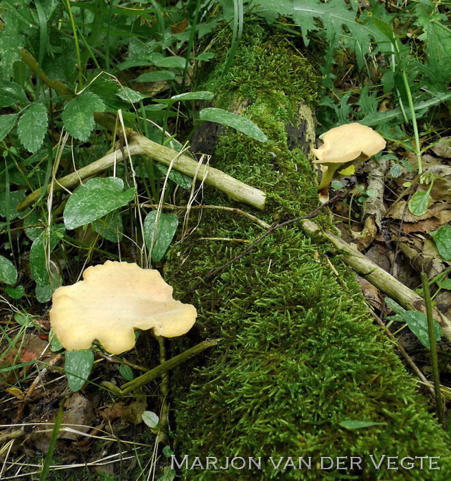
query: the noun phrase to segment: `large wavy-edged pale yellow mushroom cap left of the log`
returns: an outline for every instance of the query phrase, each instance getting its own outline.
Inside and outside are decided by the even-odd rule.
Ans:
[[[89,349],[97,340],[108,353],[135,346],[135,329],[155,335],[183,335],[196,322],[196,309],[172,298],[172,287],[154,269],[107,260],[88,267],[84,280],[58,287],[52,296],[51,327],[67,350]]]

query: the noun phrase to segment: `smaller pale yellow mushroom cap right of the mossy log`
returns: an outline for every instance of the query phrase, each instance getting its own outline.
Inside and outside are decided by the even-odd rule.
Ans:
[[[324,144],[312,148],[316,164],[344,164],[365,154],[371,157],[386,146],[384,137],[371,127],[354,123],[331,128],[321,136]]]

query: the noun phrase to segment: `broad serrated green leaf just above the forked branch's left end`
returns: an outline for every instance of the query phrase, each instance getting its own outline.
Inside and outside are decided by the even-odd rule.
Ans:
[[[85,142],[95,127],[94,113],[104,112],[102,99],[92,92],[84,92],[71,100],[62,111],[62,122],[72,137]]]

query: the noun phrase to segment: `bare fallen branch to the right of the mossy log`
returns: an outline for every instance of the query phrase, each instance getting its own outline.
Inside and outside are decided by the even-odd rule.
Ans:
[[[395,279],[388,272],[384,271],[374,262],[366,258],[363,254],[355,248],[346,243],[343,239],[339,238],[332,232],[324,231],[310,220],[302,221],[302,228],[308,234],[314,234],[323,239],[329,240],[336,249],[332,249],[334,254],[340,252],[340,258],[351,267],[359,276],[365,278],[375,287],[380,289],[389,298],[395,300],[398,304],[407,309],[408,311],[420,311],[426,314],[426,304],[424,299],[415,292],[411,291],[402,284],[399,280]],[[438,309],[432,309],[432,315],[434,319],[440,324],[443,335],[446,339],[451,340],[451,321],[443,315]]]

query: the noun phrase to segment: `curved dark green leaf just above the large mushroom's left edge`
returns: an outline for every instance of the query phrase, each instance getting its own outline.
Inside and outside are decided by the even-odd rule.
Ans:
[[[54,225],[51,232],[45,230],[38,238],[33,241],[30,249],[30,270],[37,284],[41,287],[49,284],[49,272],[47,271],[47,257],[60,242],[64,235],[65,226],[62,224]]]

